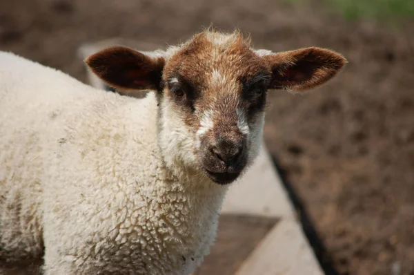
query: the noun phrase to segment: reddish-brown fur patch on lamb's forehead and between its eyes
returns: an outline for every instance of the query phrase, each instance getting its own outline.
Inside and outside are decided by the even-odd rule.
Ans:
[[[248,107],[245,101],[249,99],[243,97],[244,83],[257,75],[270,76],[270,67],[250,49],[250,41],[239,32],[222,35],[206,31],[195,35],[168,59],[163,78],[164,82],[177,77],[179,82],[190,83],[186,84],[186,98],[193,108],[186,108],[186,123],[197,131],[196,109],[214,109],[217,125],[237,123],[236,108]],[[169,89],[166,96],[175,98]]]

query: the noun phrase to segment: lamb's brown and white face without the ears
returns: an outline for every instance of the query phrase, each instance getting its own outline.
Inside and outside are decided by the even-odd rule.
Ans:
[[[259,149],[270,66],[238,36],[198,35],[166,60],[160,144],[219,184]]]

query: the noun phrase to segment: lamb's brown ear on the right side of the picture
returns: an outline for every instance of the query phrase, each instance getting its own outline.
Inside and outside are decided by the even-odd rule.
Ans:
[[[324,84],[346,64],[346,59],[324,48],[302,48],[264,55],[272,70],[270,89],[304,91]]]

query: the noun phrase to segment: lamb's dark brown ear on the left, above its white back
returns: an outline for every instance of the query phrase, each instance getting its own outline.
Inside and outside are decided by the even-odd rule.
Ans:
[[[121,90],[161,90],[165,59],[124,46],[114,46],[85,60],[90,70],[109,86]]]

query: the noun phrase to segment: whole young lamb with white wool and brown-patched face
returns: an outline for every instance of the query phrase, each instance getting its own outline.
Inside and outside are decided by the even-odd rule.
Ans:
[[[0,266],[190,274],[228,184],[258,153],[267,90],[313,88],[345,63],[210,30],[165,51],[86,59],[112,87],[153,91],[136,99],[0,53]]]

